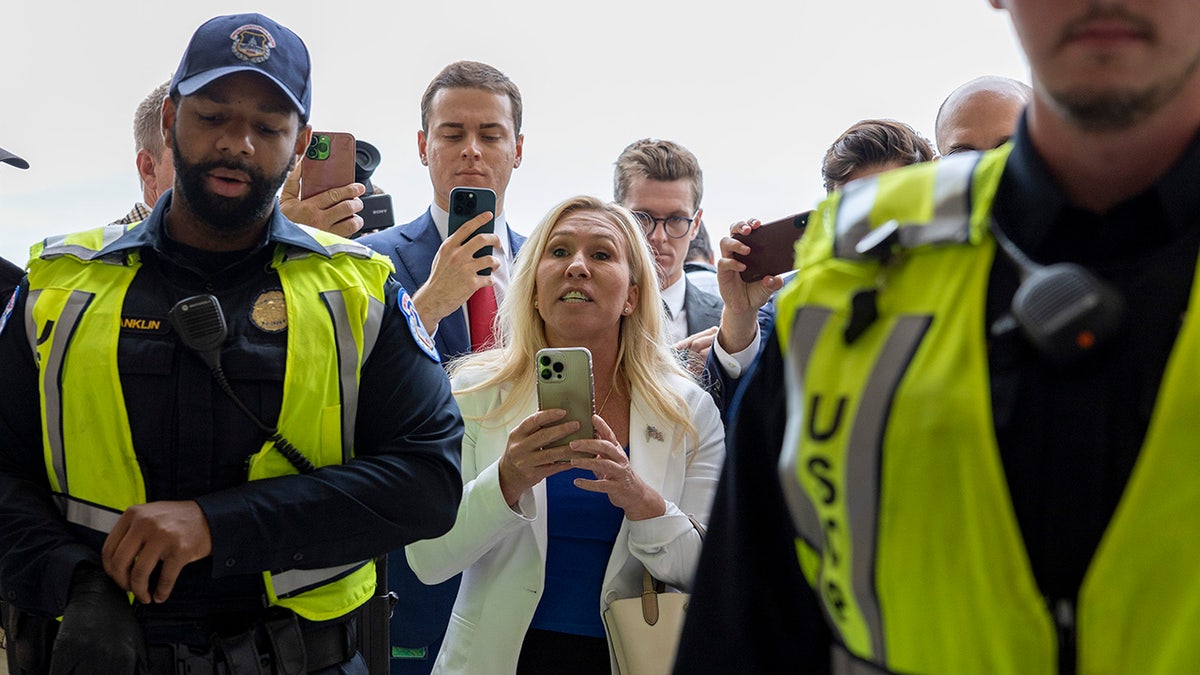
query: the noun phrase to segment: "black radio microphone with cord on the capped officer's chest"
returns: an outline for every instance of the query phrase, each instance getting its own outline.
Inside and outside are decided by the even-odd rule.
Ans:
[[[316,471],[317,467],[295,446],[281,436],[278,430],[263,424],[241,402],[241,399],[234,394],[233,387],[229,386],[229,381],[226,380],[224,370],[221,369],[221,345],[224,345],[229,329],[226,325],[224,312],[221,311],[221,303],[216,297],[192,295],[191,298],[184,298],[175,303],[175,306],[170,307],[167,316],[170,318],[170,324],[179,333],[179,339],[184,345],[199,354],[209,366],[209,370],[212,371],[212,378],[216,380],[221,390],[233,399],[233,402],[238,405],[241,412],[246,413],[246,417],[270,437],[275,449],[280,450],[300,473]]]

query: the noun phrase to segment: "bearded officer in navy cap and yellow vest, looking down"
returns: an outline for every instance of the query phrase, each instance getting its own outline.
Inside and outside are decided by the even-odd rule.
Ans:
[[[276,208],[310,102],[295,34],[211,19],[163,104],[174,190],[34,246],[0,328],[20,670],[366,673],[372,558],[452,525],[462,422],[409,295]]]

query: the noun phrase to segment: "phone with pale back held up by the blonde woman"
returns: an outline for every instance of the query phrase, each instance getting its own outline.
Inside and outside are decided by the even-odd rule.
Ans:
[[[547,347],[534,357],[538,375],[538,410],[563,408],[580,430],[559,441],[566,444],[580,438],[592,438],[592,413],[595,396],[592,381],[592,352],[587,347]]]

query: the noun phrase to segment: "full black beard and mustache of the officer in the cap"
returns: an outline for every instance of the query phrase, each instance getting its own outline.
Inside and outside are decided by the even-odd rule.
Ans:
[[[268,175],[245,161],[214,160],[190,162],[172,135],[172,155],[175,161],[175,191],[187,203],[188,209],[211,228],[235,232],[260,225],[275,208],[275,195],[292,171],[288,162],[281,172]],[[206,174],[215,168],[227,168],[245,173],[250,178],[250,190],[242,197],[222,197],[204,186]]]

